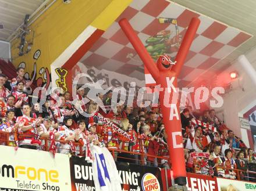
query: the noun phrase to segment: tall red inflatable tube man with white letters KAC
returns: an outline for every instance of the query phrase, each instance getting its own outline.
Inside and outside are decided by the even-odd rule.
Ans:
[[[138,56],[140,56],[145,66],[150,71],[152,77],[157,82],[157,85],[161,85],[161,88],[163,88],[163,91],[159,92],[159,100],[163,114],[163,123],[165,124],[166,133],[168,134],[168,146],[170,161],[172,163],[173,178],[175,178],[175,183],[178,185],[186,185],[186,164],[182,143],[179,101],[177,103],[169,104],[169,99],[172,99],[173,92],[177,92],[175,91],[175,88],[177,88],[177,77],[182,70],[182,66],[199,24],[200,20],[198,18],[193,18],[190,21],[189,28],[187,28],[187,32],[180,45],[180,49],[177,52],[176,61],[174,63],[170,60],[169,56],[164,55],[159,56],[156,64],[133,28],[130,26],[129,21],[127,21],[127,19],[121,19],[119,21],[120,27],[138,53]],[[169,105],[166,106],[166,103]],[[174,111],[176,111],[176,114],[173,114]]]

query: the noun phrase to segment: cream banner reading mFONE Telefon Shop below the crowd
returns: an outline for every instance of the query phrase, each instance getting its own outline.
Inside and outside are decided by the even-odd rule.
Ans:
[[[69,157],[39,150],[0,146],[0,190],[70,190]],[[8,154],[3,154],[8,153]]]

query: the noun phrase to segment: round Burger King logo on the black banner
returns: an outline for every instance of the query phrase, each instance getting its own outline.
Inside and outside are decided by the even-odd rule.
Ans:
[[[158,179],[151,173],[147,173],[143,176],[141,187],[143,191],[160,191]]]

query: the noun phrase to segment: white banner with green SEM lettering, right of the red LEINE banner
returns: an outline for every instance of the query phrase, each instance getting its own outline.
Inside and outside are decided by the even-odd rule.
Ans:
[[[219,191],[249,191],[256,190],[256,183],[234,181],[225,178],[217,178]]]

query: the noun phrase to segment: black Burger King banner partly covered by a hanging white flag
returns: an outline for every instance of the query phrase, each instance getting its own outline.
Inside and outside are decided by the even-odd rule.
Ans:
[[[162,191],[162,178],[159,168],[129,163],[116,163],[122,191]],[[70,158],[72,191],[95,191],[93,170],[84,157]]]

